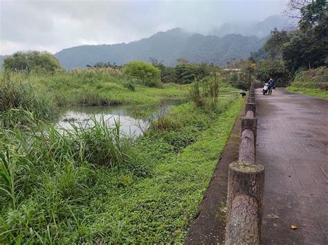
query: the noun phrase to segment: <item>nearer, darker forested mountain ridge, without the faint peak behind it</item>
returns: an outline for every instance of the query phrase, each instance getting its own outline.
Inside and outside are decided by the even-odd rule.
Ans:
[[[83,68],[98,61],[123,64],[138,59],[149,61],[154,57],[167,66],[175,66],[183,57],[192,63],[226,65],[231,59],[244,59],[262,47],[266,39],[226,35],[225,37],[191,35],[181,28],[158,32],[152,37],[131,43],[78,46],[66,48],[55,56],[65,68]]]

